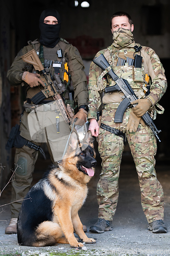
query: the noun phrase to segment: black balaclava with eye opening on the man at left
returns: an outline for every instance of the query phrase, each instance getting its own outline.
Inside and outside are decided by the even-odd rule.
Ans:
[[[54,16],[58,20],[58,24],[49,25],[44,23],[44,18],[47,16]],[[53,48],[57,45],[59,38],[59,32],[61,27],[60,14],[55,9],[44,10],[39,19],[39,28],[41,31],[40,44],[48,48]]]

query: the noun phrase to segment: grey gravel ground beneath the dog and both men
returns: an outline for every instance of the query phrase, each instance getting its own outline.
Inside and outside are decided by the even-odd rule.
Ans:
[[[90,225],[94,224],[98,218],[98,204],[96,201],[96,184],[99,180],[101,165],[96,167],[95,176],[88,183],[89,193],[87,200],[79,216],[82,223],[87,226],[87,237],[94,238],[95,244],[85,244],[82,250],[72,249],[67,244],[58,244],[51,247],[27,247],[19,246],[16,234],[5,234],[5,228],[10,222],[10,206],[5,205],[10,202],[10,184],[3,191],[0,198],[0,255],[170,255],[170,232],[154,234],[147,228],[147,220],[143,214],[140,204],[140,190],[135,166],[131,155],[124,156],[120,167],[119,178],[119,200],[116,214],[112,222],[113,230],[101,234],[89,232]],[[123,158],[123,159],[124,159]],[[36,163],[34,180],[36,183],[45,170],[44,160],[39,159]],[[163,162],[163,161],[162,161]],[[165,211],[164,222],[169,231],[170,223],[170,165],[162,165],[159,161],[156,170],[158,180],[164,189]],[[42,167],[43,166],[43,167]],[[5,170],[3,170],[5,171]]]

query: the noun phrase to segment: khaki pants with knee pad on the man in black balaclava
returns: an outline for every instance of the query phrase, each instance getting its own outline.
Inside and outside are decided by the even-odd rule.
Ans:
[[[70,134],[69,125],[55,110],[23,113],[20,124],[20,135],[36,145],[47,145],[52,162],[61,160],[67,138]],[[57,133],[56,116],[59,116],[59,130]],[[38,158],[38,151],[28,146],[16,148],[15,176],[12,181],[11,218],[18,218],[23,198],[30,190],[34,166]]]

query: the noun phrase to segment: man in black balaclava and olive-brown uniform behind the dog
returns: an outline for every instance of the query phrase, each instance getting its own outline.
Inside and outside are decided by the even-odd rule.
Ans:
[[[12,86],[26,86],[27,102],[32,106],[35,104],[32,98],[43,89],[44,83],[40,79],[40,74],[35,72],[33,66],[22,60],[21,56],[35,49],[42,64],[51,62],[50,66],[52,75],[55,73],[55,67],[59,67],[60,79],[64,80],[65,63],[68,63],[68,72],[74,87],[74,97],[77,102],[79,111],[72,118],[76,120],[75,124],[82,125],[87,120],[87,79],[84,72],[84,65],[78,49],[66,40],[59,37],[60,15],[57,10],[47,9],[40,15],[39,28],[41,32],[40,39],[29,41],[29,45],[23,47],[14,59],[11,69],[8,71],[7,78]],[[57,54],[60,51],[61,54]],[[45,66],[44,66],[45,68]],[[46,66],[48,69],[48,67]],[[40,90],[40,84],[42,84]],[[69,92],[64,92],[64,98],[68,98]],[[33,102],[32,102],[33,101]],[[27,105],[27,104],[26,104]],[[30,113],[29,113],[30,112]],[[59,132],[57,132],[56,120],[60,119]],[[24,145],[16,148],[15,153],[15,178],[12,181],[12,198],[11,198],[11,221],[6,228],[6,233],[16,233],[16,223],[21,207],[22,199],[27,195],[32,182],[32,174],[38,157],[38,148],[42,142],[46,142],[48,152],[53,163],[61,160],[67,138],[70,134],[70,127],[65,123],[61,113],[55,104],[53,97],[48,97],[36,105],[36,110],[29,111],[26,108],[20,119],[20,135],[27,139],[32,148]],[[31,129],[31,130],[30,130]],[[31,136],[31,131],[34,132]],[[86,227],[84,226],[84,230]]]

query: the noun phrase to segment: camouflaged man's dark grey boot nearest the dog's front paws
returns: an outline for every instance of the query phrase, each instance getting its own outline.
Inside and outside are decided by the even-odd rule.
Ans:
[[[89,231],[93,233],[104,233],[104,231],[111,231],[112,226],[111,221],[106,221],[104,219],[99,218],[98,221],[90,227]]]

